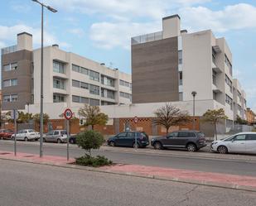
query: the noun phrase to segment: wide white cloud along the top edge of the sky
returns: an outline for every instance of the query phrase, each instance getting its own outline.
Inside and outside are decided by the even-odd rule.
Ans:
[[[163,17],[167,11],[181,6],[191,6],[210,0],[47,0],[47,3],[70,12],[101,14],[114,18]]]

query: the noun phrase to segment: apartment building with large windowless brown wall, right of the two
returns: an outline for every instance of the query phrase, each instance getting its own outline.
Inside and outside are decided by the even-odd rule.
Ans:
[[[224,108],[232,125],[245,119],[246,95],[233,79],[232,53],[225,38],[212,31],[181,30],[178,15],[162,19],[162,31],[132,38],[133,103],[180,102]],[[205,107],[196,106],[196,116]]]

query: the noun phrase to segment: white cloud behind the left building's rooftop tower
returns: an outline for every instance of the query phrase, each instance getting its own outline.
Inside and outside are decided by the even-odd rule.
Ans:
[[[31,26],[26,26],[23,24],[18,24],[15,26],[0,26],[0,46],[7,45],[6,41],[14,41],[16,40],[16,36],[18,33],[26,31],[33,35],[33,43],[35,46],[39,46],[41,44],[41,29],[32,28]],[[47,46],[52,44],[59,44],[63,47],[69,47],[65,42],[60,42],[56,39],[56,36],[53,36],[49,32],[44,32],[44,44]]]

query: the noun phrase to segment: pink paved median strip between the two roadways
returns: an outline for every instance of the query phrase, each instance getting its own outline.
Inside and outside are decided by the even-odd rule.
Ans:
[[[112,166],[104,166],[101,168],[91,168],[70,164],[74,163],[75,160],[70,159],[69,161],[67,161],[65,157],[43,156],[42,158],[40,158],[38,155],[32,155],[27,153],[17,153],[17,156],[14,156],[14,154],[9,151],[0,151],[0,160],[1,159],[256,192],[256,177],[254,176],[229,175],[202,172],[196,170],[180,170],[174,168],[152,167],[144,165],[117,164]]]

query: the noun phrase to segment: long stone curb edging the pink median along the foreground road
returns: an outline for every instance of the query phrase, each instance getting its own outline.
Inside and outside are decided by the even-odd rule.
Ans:
[[[100,168],[94,168],[94,167],[88,167],[88,166],[82,166],[82,165],[70,165],[70,164],[58,165],[58,164],[49,163],[49,162],[35,162],[35,161],[31,161],[31,160],[8,159],[8,158],[2,158],[2,157],[0,157],[0,160],[25,162],[25,163],[35,164],[35,165],[56,166],[56,167],[60,167],[60,168],[67,168],[67,169],[74,169],[74,170],[87,170],[87,171],[94,171],[94,172],[106,173],[106,174],[111,174],[111,175],[123,175],[123,176],[132,176],[132,177],[145,178],[145,179],[185,183],[185,184],[197,184],[197,185],[201,185],[201,186],[209,186],[209,187],[223,188],[223,189],[235,189],[235,190],[256,193],[256,187],[244,186],[244,185],[239,185],[239,184],[226,184],[226,183],[218,183],[218,182],[211,182],[211,181],[205,181],[205,180],[181,179],[181,178],[176,178],[176,177],[166,177],[166,176],[159,176],[159,175],[142,175],[142,174],[138,174],[136,172],[121,172],[121,171],[102,170]]]

